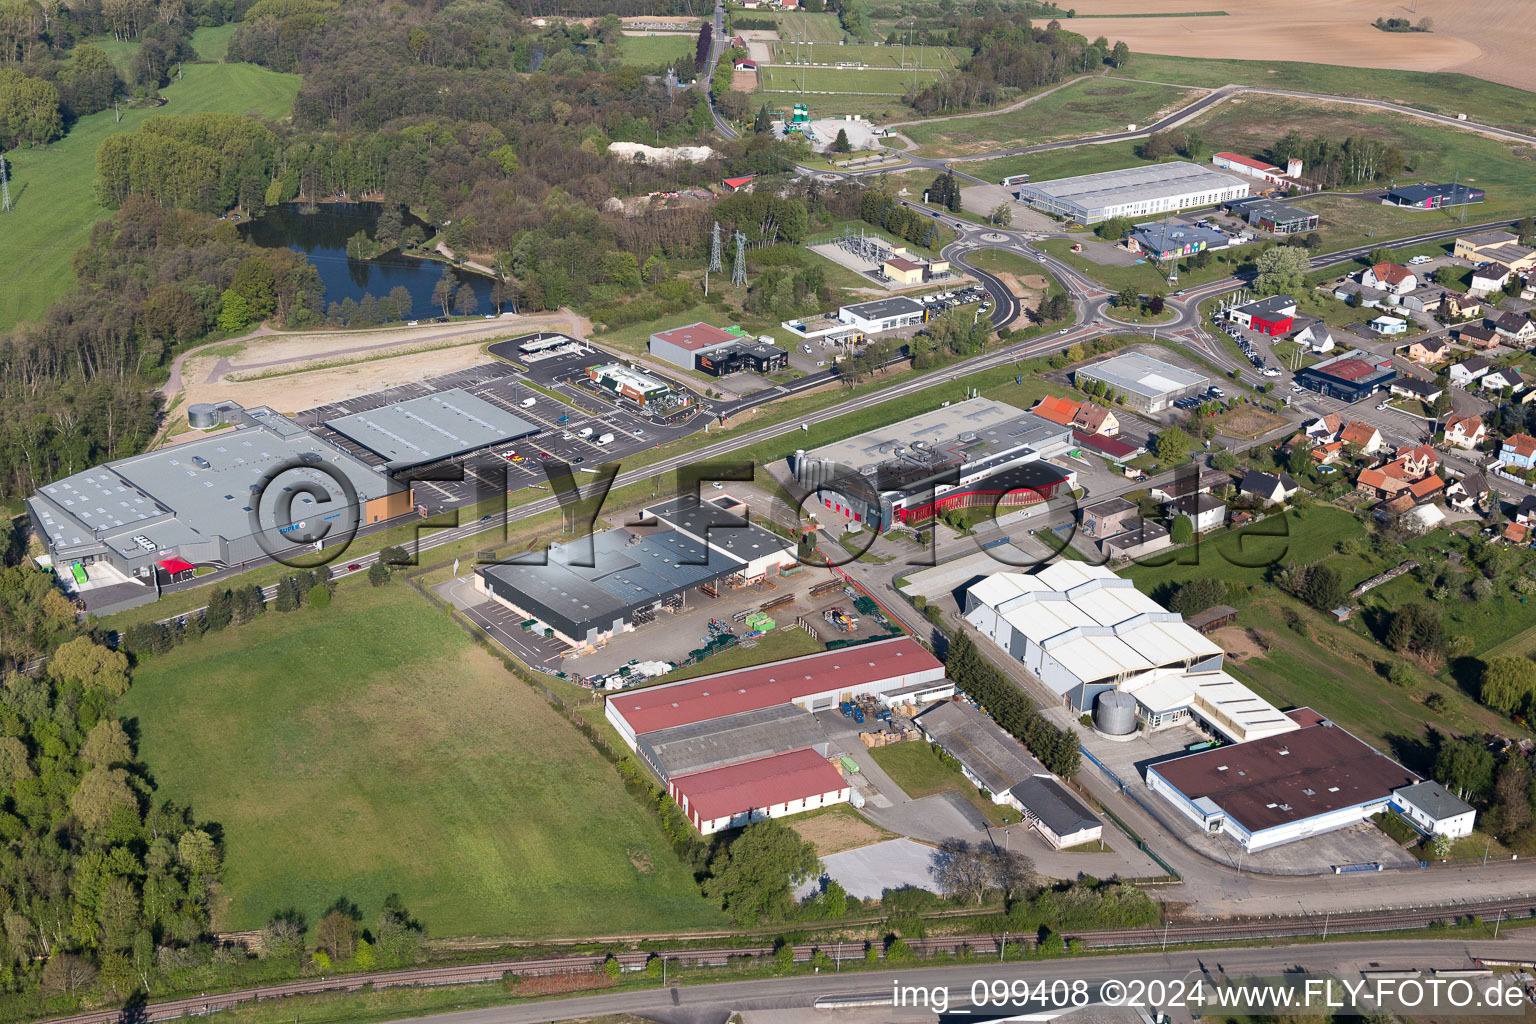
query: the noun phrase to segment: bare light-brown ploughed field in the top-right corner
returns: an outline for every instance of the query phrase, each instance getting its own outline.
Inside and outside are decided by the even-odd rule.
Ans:
[[[1221,9],[1226,15],[1197,15]],[[1530,0],[1083,0],[1091,35],[1124,40],[1132,52],[1172,57],[1299,60],[1353,68],[1459,71],[1521,89],[1536,88],[1530,54],[1536,18]],[[1475,12],[1475,17],[1468,17]],[[1189,17],[1147,17],[1189,14]],[[1428,18],[1430,32],[1382,32],[1376,18]],[[1263,45],[1256,46],[1256,41]]]

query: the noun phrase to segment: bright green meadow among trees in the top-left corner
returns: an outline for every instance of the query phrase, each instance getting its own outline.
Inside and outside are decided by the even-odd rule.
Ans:
[[[183,80],[167,86],[166,104],[112,111],[80,118],[69,134],[46,149],[6,154],[11,198],[0,246],[0,330],[35,319],[49,302],[74,287],[71,259],[86,244],[91,224],[111,210],[95,201],[95,150],[114,132],[131,132],[157,114],[221,111],[284,118],[298,94],[298,75],[280,75],[255,64],[187,64]]]

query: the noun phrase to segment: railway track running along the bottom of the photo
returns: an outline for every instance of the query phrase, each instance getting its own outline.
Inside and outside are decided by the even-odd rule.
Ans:
[[[1458,901],[1442,906],[1401,907],[1389,910],[1364,910],[1341,915],[1296,915],[1286,918],[1264,918],[1255,921],[1187,921],[1167,923],[1164,927],[1107,929],[1094,932],[1068,932],[1069,940],[1081,941],[1089,949],[1130,949],[1163,944],[1195,944],[1195,943],[1240,943],[1264,941],[1275,938],[1324,938],[1327,935],[1350,935],[1362,932],[1402,932],[1428,927],[1432,924],[1453,923],[1467,917],[1518,920],[1536,917],[1536,894],[1513,897],[1508,900]],[[997,953],[1003,941],[1001,935],[943,935],[931,938],[909,938],[906,944],[920,956],[938,953]],[[1028,936],[1015,936],[1012,941],[1032,944]],[[834,963],[843,960],[863,960],[865,943],[803,943],[794,947],[797,961],[809,961],[816,953],[826,953]],[[774,953],[773,944],[731,946],[714,949],[680,949],[660,953],[650,950],[627,950],[614,953],[621,969],[627,972],[644,970],[651,956],[664,956],[667,964],[722,967],[733,958],[762,958]],[[306,978],[284,984],[263,986],[258,989],[241,989],[237,992],[221,992],[217,995],[197,995],[180,999],[149,1003],[129,1010],[92,1010],[72,1016],[52,1018],[41,1024],[147,1024],[151,1021],[167,1021],[178,1016],[198,1016],[217,1013],[247,1003],[264,1003],[269,999],[284,999],[298,995],[318,995],[323,992],[356,992],[358,989],[390,989],[401,986],[456,986],[501,981],[507,975],[522,978],[538,978],[562,973],[590,973],[602,969],[608,956],[605,953],[578,953],[567,956],[535,956],[527,960],[496,960],[484,964],[458,964],[452,967],[415,967],[406,970],[386,970],[369,975],[344,975],[339,978]]]

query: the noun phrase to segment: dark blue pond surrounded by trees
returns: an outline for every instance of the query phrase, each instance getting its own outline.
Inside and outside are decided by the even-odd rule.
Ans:
[[[495,281],[438,263],[416,259],[399,250],[381,253],[373,259],[353,259],[347,255],[347,239],[359,230],[372,238],[378,229],[381,203],[324,203],[304,212],[300,203],[284,203],[269,209],[260,218],[241,226],[246,238],[266,249],[287,247],[309,256],[326,284],[326,306],[352,299],[361,302],[366,295],[382,299],[396,287],[410,293],[410,319],[441,316],[442,309],[432,301],[432,290],[447,273],[459,289],[475,293],[475,313],[493,313],[490,290]],[[418,224],[432,233],[430,227],[415,216],[406,215],[407,224]]]

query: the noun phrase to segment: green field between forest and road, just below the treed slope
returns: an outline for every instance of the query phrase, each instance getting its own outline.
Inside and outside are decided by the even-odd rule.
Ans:
[[[917,123],[902,134],[919,144],[925,157],[1032,146],[1124,130],[1126,124],[1149,124],[1158,114],[1200,98],[1200,92],[1177,86],[1111,78],[1084,78],[1006,114],[982,114],[946,121]]]

